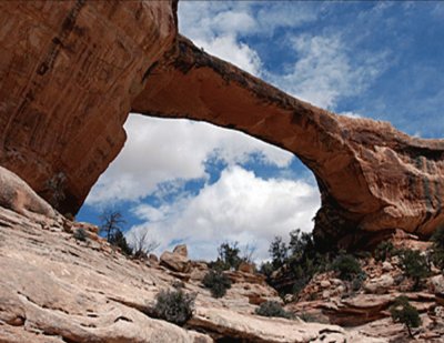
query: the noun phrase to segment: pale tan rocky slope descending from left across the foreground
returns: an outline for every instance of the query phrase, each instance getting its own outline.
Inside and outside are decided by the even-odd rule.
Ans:
[[[2,182],[21,182],[4,169],[0,174]],[[2,343],[385,342],[337,325],[254,315],[256,304],[279,299],[263,276],[246,272],[230,273],[232,289],[215,300],[201,285],[206,265],[189,261],[183,248],[161,263],[130,260],[98,238],[97,226],[49,216],[48,204],[24,183],[17,194],[0,198]],[[85,242],[73,236],[80,228]],[[153,316],[155,295],[174,286],[198,294],[184,327]]]

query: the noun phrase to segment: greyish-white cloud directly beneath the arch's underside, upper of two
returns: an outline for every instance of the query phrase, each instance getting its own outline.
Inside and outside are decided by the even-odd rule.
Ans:
[[[92,189],[88,204],[138,201],[155,191],[171,193],[171,186],[186,180],[206,179],[205,162],[211,158],[234,164],[256,154],[263,163],[280,168],[293,159],[292,153],[244,133],[203,122],[132,114],[124,128],[128,141]]]

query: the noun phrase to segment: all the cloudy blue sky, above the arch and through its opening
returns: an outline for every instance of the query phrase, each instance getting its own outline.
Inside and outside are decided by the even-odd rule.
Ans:
[[[182,1],[179,27],[205,51],[342,115],[385,120],[442,138],[444,3]],[[131,114],[128,142],[78,220],[103,209],[148,231],[158,252],[178,242],[214,259],[224,241],[268,258],[274,235],[312,230],[320,205],[309,170],[243,133]]]

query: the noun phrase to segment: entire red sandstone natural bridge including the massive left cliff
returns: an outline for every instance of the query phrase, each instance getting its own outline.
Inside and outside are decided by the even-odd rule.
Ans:
[[[208,121],[295,153],[321,191],[319,238],[428,235],[444,223],[444,140],[333,114],[206,54],[178,34],[176,1],[0,9],[0,164],[62,212],[78,211],[122,149],[131,110]]]

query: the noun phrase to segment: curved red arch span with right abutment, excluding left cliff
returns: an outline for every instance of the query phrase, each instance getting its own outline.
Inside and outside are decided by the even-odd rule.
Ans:
[[[180,37],[132,110],[243,131],[296,154],[322,196],[317,236],[444,221],[444,141],[411,138],[387,122],[340,117],[294,99]]]

